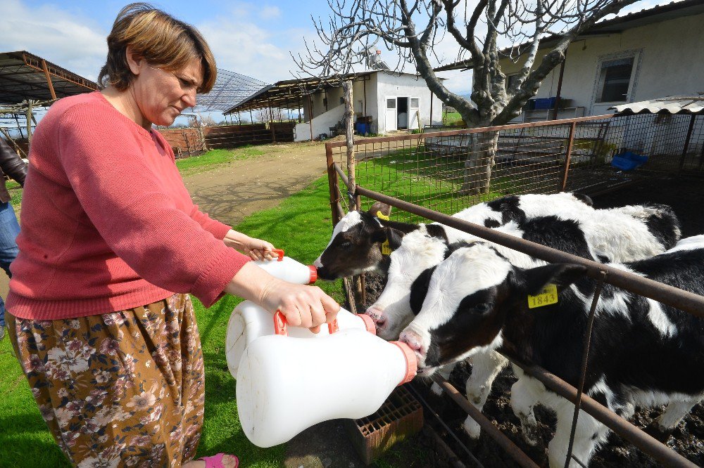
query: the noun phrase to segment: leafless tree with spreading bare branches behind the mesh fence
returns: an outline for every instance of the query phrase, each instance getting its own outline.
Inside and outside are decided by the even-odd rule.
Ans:
[[[415,66],[429,89],[467,124],[501,125],[520,115],[543,79],[565,60],[571,41],[636,1],[328,0],[327,22],[313,19],[319,41],[307,41],[306,56],[296,62],[311,76],[339,75],[364,67],[367,51],[384,46],[398,58],[396,71]],[[539,41],[548,34],[556,43],[540,56]],[[458,60],[472,67],[472,102],[449,91],[433,70],[431,60],[441,61],[437,46],[446,38],[457,44]],[[502,50],[499,42],[512,45]],[[507,57],[521,64],[508,89],[499,63]],[[489,190],[498,134],[479,135],[465,162],[464,193]]]

